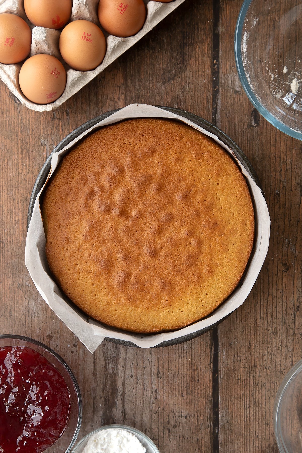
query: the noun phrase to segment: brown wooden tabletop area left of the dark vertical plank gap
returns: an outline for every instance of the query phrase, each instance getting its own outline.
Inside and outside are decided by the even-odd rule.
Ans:
[[[27,110],[0,84],[0,332],[34,337],[69,363],[84,402],[80,437],[124,423],[161,452],[211,451],[211,334],[166,349],[105,342],[92,356],[43,302],[24,265],[30,193],[55,145],[86,120],[132,102],[211,120],[211,49],[212,2],[187,0],[54,112]]]

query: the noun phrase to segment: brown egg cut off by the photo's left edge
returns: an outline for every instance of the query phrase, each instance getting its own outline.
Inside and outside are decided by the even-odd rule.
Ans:
[[[31,29],[15,14],[0,14],[0,63],[24,60],[31,49]]]

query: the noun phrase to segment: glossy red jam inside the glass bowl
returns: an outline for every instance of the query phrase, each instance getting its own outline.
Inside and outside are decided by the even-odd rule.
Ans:
[[[41,453],[68,421],[66,382],[29,347],[0,348],[0,452]]]

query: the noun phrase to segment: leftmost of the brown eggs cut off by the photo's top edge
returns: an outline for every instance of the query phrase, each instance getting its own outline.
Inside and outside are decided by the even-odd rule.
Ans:
[[[58,30],[70,19],[72,0],[24,0],[24,10],[34,25]]]

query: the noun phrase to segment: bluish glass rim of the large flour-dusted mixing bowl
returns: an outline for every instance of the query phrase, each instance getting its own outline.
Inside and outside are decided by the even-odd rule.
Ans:
[[[252,102],[254,107],[261,113],[262,116],[266,120],[268,120],[269,123],[271,123],[274,127],[277,129],[281,130],[287,135],[290,135],[291,137],[302,140],[302,132],[299,132],[297,130],[293,130],[287,125],[283,124],[281,121],[279,121],[277,118],[275,118],[264,106],[259,102],[258,98],[255,96],[254,91],[252,90],[251,86],[249,85],[248,79],[246,77],[245,71],[244,71],[244,65],[243,65],[243,60],[242,60],[242,53],[241,53],[241,43],[242,43],[242,31],[243,31],[243,25],[244,25],[244,20],[246,17],[246,14],[249,10],[249,6],[254,0],[244,0],[243,5],[241,6],[240,13],[236,22],[236,28],[235,28],[235,62],[236,62],[236,69],[240,78],[240,82],[244,88],[245,93],[247,94],[249,100]]]

